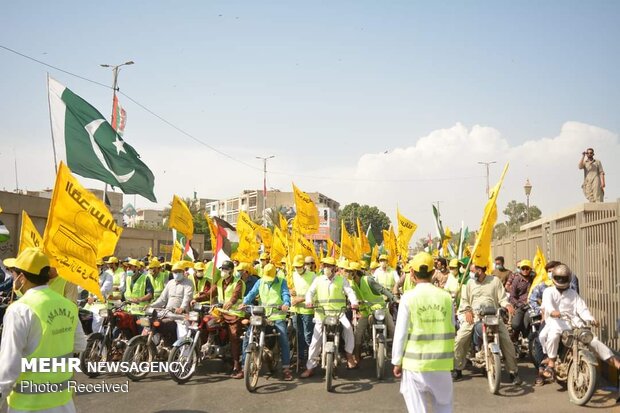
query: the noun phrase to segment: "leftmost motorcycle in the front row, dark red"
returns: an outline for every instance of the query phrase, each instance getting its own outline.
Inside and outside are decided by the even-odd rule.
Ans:
[[[124,311],[126,305],[127,303],[109,303],[106,308],[99,309],[103,323],[99,331],[88,336],[86,349],[80,354],[81,370],[88,377],[99,375],[97,371],[90,371],[89,363],[120,361],[128,341],[138,334],[133,316]]]

